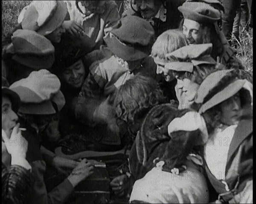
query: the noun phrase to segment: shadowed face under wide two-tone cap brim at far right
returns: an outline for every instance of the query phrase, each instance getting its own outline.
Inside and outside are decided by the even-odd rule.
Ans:
[[[236,125],[241,116],[241,101],[239,93],[228,98],[220,104],[221,122],[226,125]]]

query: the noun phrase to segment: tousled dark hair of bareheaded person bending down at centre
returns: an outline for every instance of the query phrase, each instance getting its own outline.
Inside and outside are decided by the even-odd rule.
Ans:
[[[148,111],[166,103],[166,98],[153,78],[136,75],[119,87],[114,100],[115,116],[119,126],[130,126]]]

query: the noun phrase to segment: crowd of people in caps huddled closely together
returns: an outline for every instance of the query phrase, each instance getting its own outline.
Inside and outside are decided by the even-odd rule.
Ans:
[[[253,80],[227,2],[24,7],[2,39],[3,203],[64,204],[94,173],[87,151],[122,149],[129,171],[109,185],[129,203],[252,203]],[[71,173],[49,191],[47,167]]]

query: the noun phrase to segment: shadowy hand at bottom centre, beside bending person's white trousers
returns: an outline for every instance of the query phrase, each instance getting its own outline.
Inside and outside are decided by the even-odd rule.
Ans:
[[[111,189],[118,197],[126,195],[129,188],[129,178],[127,175],[119,175],[110,182]]]

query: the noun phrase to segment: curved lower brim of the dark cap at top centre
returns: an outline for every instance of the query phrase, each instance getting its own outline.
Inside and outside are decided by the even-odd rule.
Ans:
[[[120,57],[125,61],[135,61],[147,57],[151,50],[147,50],[148,53],[143,52],[139,49],[135,49],[132,46],[128,46],[122,43],[117,37],[108,34],[104,37],[108,48],[113,52],[114,55]]]

